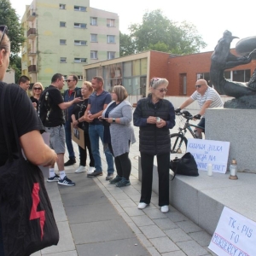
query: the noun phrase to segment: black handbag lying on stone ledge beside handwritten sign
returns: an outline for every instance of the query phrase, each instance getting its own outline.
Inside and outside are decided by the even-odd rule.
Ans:
[[[175,158],[170,161],[170,169],[174,172],[173,178],[176,174],[186,175],[186,176],[199,176],[198,168],[195,162],[194,156],[187,152],[182,158]]]

